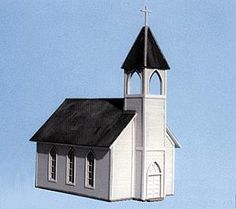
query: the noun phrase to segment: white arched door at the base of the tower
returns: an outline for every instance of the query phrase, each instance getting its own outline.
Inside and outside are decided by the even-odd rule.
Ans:
[[[152,163],[147,171],[147,199],[161,198],[161,169]]]

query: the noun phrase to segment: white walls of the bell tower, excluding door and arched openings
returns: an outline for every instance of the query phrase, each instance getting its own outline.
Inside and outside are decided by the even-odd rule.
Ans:
[[[158,71],[162,78],[162,95],[150,95],[149,79],[153,69],[142,71],[142,92],[127,95],[125,110],[136,110],[135,121],[135,198],[146,200],[148,166],[157,162],[162,170],[161,196],[165,195],[165,134],[166,134],[166,71]],[[127,85],[127,75],[125,77]],[[158,84],[157,84],[158,85]]]

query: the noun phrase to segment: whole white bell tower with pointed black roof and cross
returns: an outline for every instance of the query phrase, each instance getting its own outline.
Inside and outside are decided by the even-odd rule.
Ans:
[[[141,200],[165,196],[166,81],[169,65],[151,29],[147,25],[150,11],[145,7],[142,27],[123,65],[125,110],[135,110],[134,197]],[[139,86],[133,92],[133,81]],[[153,88],[156,90],[153,92]],[[158,176],[147,178],[156,165]],[[155,170],[155,169],[153,169]],[[160,181],[153,187],[150,181]],[[150,191],[153,191],[150,193]]]

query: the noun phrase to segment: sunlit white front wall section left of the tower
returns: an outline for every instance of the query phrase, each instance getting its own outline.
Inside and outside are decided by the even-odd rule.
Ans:
[[[131,121],[111,147],[111,200],[132,198],[133,127]]]

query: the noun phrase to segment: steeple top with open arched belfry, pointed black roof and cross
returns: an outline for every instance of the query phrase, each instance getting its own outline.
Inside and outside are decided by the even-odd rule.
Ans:
[[[144,26],[121,66],[124,69],[124,96],[129,97],[134,94],[143,97],[150,96],[152,94],[150,92],[150,84],[153,75],[157,75],[159,79],[159,84],[156,85],[160,89],[159,95],[166,95],[166,70],[170,69],[170,67],[150,27],[147,25],[150,11],[147,7],[141,11],[145,13]],[[133,93],[132,83],[135,77],[140,78],[140,91]]]

